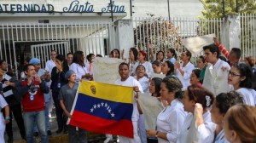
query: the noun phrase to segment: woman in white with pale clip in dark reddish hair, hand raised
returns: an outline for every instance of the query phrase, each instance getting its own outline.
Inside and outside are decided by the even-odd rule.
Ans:
[[[183,123],[177,143],[210,143],[214,140],[216,124],[212,123],[208,108],[212,106],[214,95],[198,85],[190,85],[184,91],[184,110],[189,112]]]

